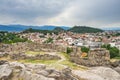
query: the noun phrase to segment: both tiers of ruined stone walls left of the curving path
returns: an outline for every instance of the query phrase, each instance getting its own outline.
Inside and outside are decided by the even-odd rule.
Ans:
[[[3,44],[0,45],[0,58],[7,57],[9,55],[10,59],[13,60],[59,60],[60,57],[57,55],[49,54],[36,54],[34,56],[25,54],[26,51],[65,51],[65,48],[62,46],[50,45],[50,44],[36,44],[36,43],[15,43],[15,44]]]

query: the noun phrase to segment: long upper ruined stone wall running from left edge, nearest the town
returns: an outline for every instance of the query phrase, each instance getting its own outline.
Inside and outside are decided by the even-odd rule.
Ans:
[[[55,44],[38,44],[38,43],[15,43],[15,44],[3,44],[0,45],[0,52],[26,52],[26,51],[57,51],[66,52],[64,46],[58,46]]]

